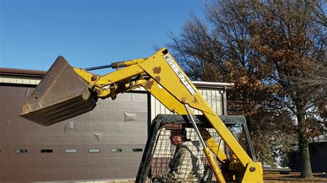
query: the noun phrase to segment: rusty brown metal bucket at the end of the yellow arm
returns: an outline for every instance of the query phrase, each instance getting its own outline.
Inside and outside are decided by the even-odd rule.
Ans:
[[[43,126],[94,109],[97,95],[90,92],[63,56],[59,56],[22,107],[22,116]]]

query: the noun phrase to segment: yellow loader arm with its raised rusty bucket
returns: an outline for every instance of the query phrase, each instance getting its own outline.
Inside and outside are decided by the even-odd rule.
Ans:
[[[112,65],[121,68],[98,76],[85,69],[71,67],[63,57],[57,58],[23,105],[21,116],[48,126],[92,110],[98,98],[115,99],[119,93],[143,87],[175,114],[188,114],[188,106],[201,111],[236,156],[237,160],[230,162],[231,171],[241,177],[241,182],[263,182],[261,163],[251,160],[166,48],[148,58]],[[212,139],[207,137],[204,140]],[[217,180],[225,182],[217,162],[210,160],[211,151],[204,149]],[[226,159],[224,153],[213,154],[221,158],[220,154]]]

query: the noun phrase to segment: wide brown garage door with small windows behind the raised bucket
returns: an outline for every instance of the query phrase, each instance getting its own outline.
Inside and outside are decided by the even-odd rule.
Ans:
[[[0,86],[0,181],[136,177],[147,138],[148,94],[99,99],[93,111],[43,127],[18,116],[33,89]]]

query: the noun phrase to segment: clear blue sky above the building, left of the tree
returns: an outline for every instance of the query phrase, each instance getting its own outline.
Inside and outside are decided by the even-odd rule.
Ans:
[[[0,0],[0,67],[47,70],[59,55],[81,68],[150,56],[202,7],[203,0]]]

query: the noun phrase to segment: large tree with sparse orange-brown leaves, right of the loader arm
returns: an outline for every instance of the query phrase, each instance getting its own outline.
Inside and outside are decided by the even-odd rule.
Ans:
[[[264,149],[290,149],[285,139],[297,137],[303,177],[312,177],[308,140],[322,127],[326,100],[326,26],[317,4],[210,2],[206,19],[191,14],[170,45],[191,78],[235,83],[229,111],[247,117],[264,162]]]

